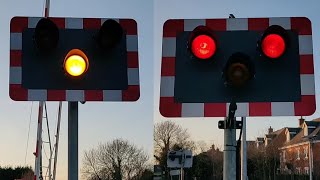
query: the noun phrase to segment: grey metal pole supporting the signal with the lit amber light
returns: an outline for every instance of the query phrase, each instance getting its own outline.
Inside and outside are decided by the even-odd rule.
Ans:
[[[68,180],[78,180],[78,102],[68,102]]]

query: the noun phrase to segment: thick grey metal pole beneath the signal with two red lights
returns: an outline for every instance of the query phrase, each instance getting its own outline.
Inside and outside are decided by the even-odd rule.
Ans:
[[[231,121],[235,121],[232,118]],[[226,121],[225,121],[226,122]],[[223,150],[223,179],[236,179],[236,129],[235,122],[232,127],[224,129],[224,150]]]

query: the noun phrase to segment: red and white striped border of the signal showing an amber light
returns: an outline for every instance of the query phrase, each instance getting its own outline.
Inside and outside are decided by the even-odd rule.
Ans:
[[[132,19],[114,19],[127,32],[127,90],[25,89],[22,80],[22,32],[35,28],[42,17],[14,17],[10,24],[9,94],[16,101],[136,101],[140,97],[137,24]],[[51,18],[60,29],[99,29],[107,19]]]

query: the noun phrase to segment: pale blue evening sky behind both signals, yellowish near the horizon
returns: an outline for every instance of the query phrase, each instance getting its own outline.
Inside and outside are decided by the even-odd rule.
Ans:
[[[14,102],[9,98],[9,22],[13,16],[42,16],[43,0],[11,0],[0,6],[0,165],[23,165],[26,152],[31,102]],[[86,103],[79,105],[79,152],[122,137],[152,152],[153,122],[166,120],[158,111],[162,26],[172,18],[239,18],[306,16],[312,21],[315,80],[319,80],[320,21],[317,0],[223,2],[217,0],[52,0],[50,16],[133,18],[138,23],[141,97],[136,103]],[[319,84],[316,95],[319,99]],[[319,105],[319,101],[317,100]],[[58,179],[67,179],[67,108],[63,104]],[[58,103],[48,103],[51,131],[55,130]],[[307,119],[319,117],[319,111]],[[269,126],[297,126],[298,117],[249,118],[248,138],[263,135]],[[188,128],[195,140],[223,144],[223,131],[217,128],[219,118],[175,119]],[[34,165],[37,103],[33,104],[28,165]],[[80,159],[81,160],[81,159]]]

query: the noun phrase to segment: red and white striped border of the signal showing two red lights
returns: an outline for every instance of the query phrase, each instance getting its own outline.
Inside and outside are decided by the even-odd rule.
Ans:
[[[176,36],[205,25],[216,31],[258,30],[280,25],[299,34],[301,101],[237,103],[237,117],[307,116],[315,112],[315,85],[311,22],[304,17],[173,19],[163,27],[160,113],[164,117],[226,117],[229,103],[176,103],[174,101]]]

